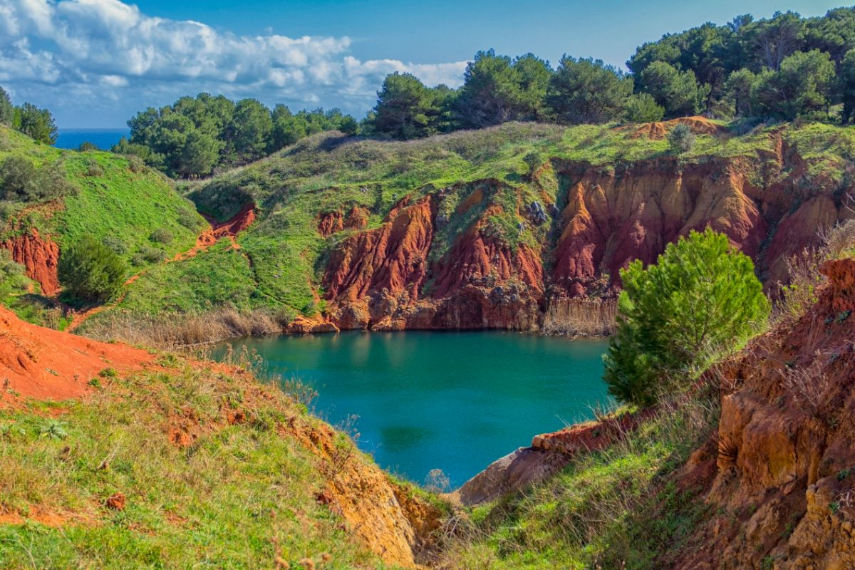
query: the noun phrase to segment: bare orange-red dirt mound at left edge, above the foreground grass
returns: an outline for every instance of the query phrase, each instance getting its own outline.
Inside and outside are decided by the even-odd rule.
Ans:
[[[0,402],[8,403],[15,395],[54,400],[78,397],[104,368],[121,373],[151,361],[144,350],[30,325],[0,307]]]

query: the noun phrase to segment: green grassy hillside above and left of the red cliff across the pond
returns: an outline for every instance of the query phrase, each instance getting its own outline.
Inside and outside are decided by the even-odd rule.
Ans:
[[[855,156],[855,129],[807,125],[770,126],[748,134],[699,135],[684,162],[705,162],[715,157],[749,157],[764,160],[775,150],[773,132],[805,159],[811,176],[843,184],[846,162]],[[181,303],[162,293],[170,282],[188,273],[223,273],[233,289],[230,302],[240,309],[274,306],[292,314],[314,314],[313,292],[319,291],[323,256],[348,232],[330,238],[316,232],[318,216],[353,206],[371,212],[369,227],[378,226],[392,205],[405,195],[419,197],[433,189],[453,191],[440,205],[451,213],[472,191],[470,183],[496,179],[501,185],[492,197],[504,209],[493,216],[488,231],[511,247],[521,241],[545,242],[545,226],[529,228],[522,236],[516,226],[526,203],[548,197],[560,202],[560,181],[545,168],[540,184],[528,181],[523,158],[536,151],[544,159],[563,159],[605,169],[616,162],[636,162],[671,156],[666,141],[634,138],[632,127],[553,126],[506,124],[473,132],[455,132],[428,139],[382,142],[341,138],[321,133],[249,167],[190,186],[187,191],[201,211],[225,220],[247,202],[260,210],[255,226],[239,237],[244,258],[233,256],[236,267],[221,266],[221,252],[198,256],[140,279],[122,307],[155,314],[162,309],[206,309],[227,299],[226,291],[211,293],[209,283],[188,280],[182,285]],[[827,187],[827,186],[826,186]],[[546,195],[546,197],[544,196]],[[560,205],[560,204],[559,204]],[[479,214],[471,211],[469,217]],[[468,220],[451,216],[437,235],[433,258],[451,247]],[[251,264],[249,263],[251,261]],[[181,267],[192,265],[192,267]],[[249,268],[249,271],[247,271]],[[314,289],[314,291],[313,291]]]

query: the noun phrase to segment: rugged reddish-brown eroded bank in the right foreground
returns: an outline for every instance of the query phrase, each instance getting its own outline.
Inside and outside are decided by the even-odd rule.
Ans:
[[[811,311],[717,372],[715,444],[676,477],[713,515],[676,567],[855,567],[855,260],[822,270]]]

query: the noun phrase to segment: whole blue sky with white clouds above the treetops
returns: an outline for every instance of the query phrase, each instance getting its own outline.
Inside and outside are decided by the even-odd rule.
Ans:
[[[623,67],[667,32],[823,0],[0,0],[0,85],[61,128],[124,126],[200,91],[361,118],[387,73],[463,82],[478,50]]]

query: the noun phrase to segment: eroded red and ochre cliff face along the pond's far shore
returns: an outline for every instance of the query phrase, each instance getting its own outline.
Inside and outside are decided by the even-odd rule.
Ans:
[[[323,272],[325,320],[345,329],[562,330],[552,321],[563,312],[551,308],[615,297],[622,267],[656,261],[706,226],[752,256],[772,288],[786,280],[788,258],[817,244],[817,230],[850,216],[838,184],[808,185],[806,172],[780,142],[756,160],[607,168],[554,160],[527,185],[484,179],[404,197],[370,230],[348,223],[352,211],[323,214],[321,235],[349,232]],[[451,195],[459,203],[449,210]],[[498,218],[516,224],[513,244],[493,231]]]

